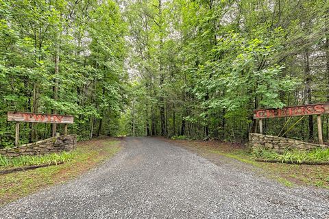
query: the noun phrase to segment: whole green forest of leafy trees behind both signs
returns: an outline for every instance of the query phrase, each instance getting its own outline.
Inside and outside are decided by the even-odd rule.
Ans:
[[[73,115],[79,140],[245,142],[256,109],[329,102],[328,0],[0,0],[0,48],[0,148],[7,112]],[[317,141],[316,116],[263,131],[286,122]],[[53,128],[24,123],[21,143]]]

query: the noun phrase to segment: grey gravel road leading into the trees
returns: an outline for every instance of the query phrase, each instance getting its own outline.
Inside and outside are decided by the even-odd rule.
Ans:
[[[5,205],[0,218],[329,218],[328,190],[287,188],[157,138],[123,147],[78,179]]]

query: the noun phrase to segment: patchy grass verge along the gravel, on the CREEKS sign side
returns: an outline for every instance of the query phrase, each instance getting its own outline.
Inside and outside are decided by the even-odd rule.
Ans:
[[[252,169],[261,175],[275,179],[279,183],[289,187],[304,185],[329,189],[329,165],[256,162],[254,159],[255,156],[249,152],[247,147],[229,142],[204,142],[199,140],[169,140],[169,142],[181,144],[215,163],[221,160],[220,156],[239,160],[240,162],[249,164],[251,167],[256,167]],[[308,157],[317,157],[319,159],[320,157],[326,157],[326,153],[313,151]]]

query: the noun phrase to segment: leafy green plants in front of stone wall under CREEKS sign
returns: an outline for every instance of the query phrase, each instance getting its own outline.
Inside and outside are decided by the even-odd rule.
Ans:
[[[304,162],[329,162],[329,149],[312,149],[309,151],[287,150],[279,154],[275,151],[257,148],[253,149],[254,158],[264,159],[265,161],[277,161],[282,163],[302,164]]]

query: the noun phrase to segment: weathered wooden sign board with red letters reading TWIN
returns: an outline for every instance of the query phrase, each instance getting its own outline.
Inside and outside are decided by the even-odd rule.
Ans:
[[[73,124],[73,116],[55,114],[33,114],[29,112],[8,112],[10,122]]]

